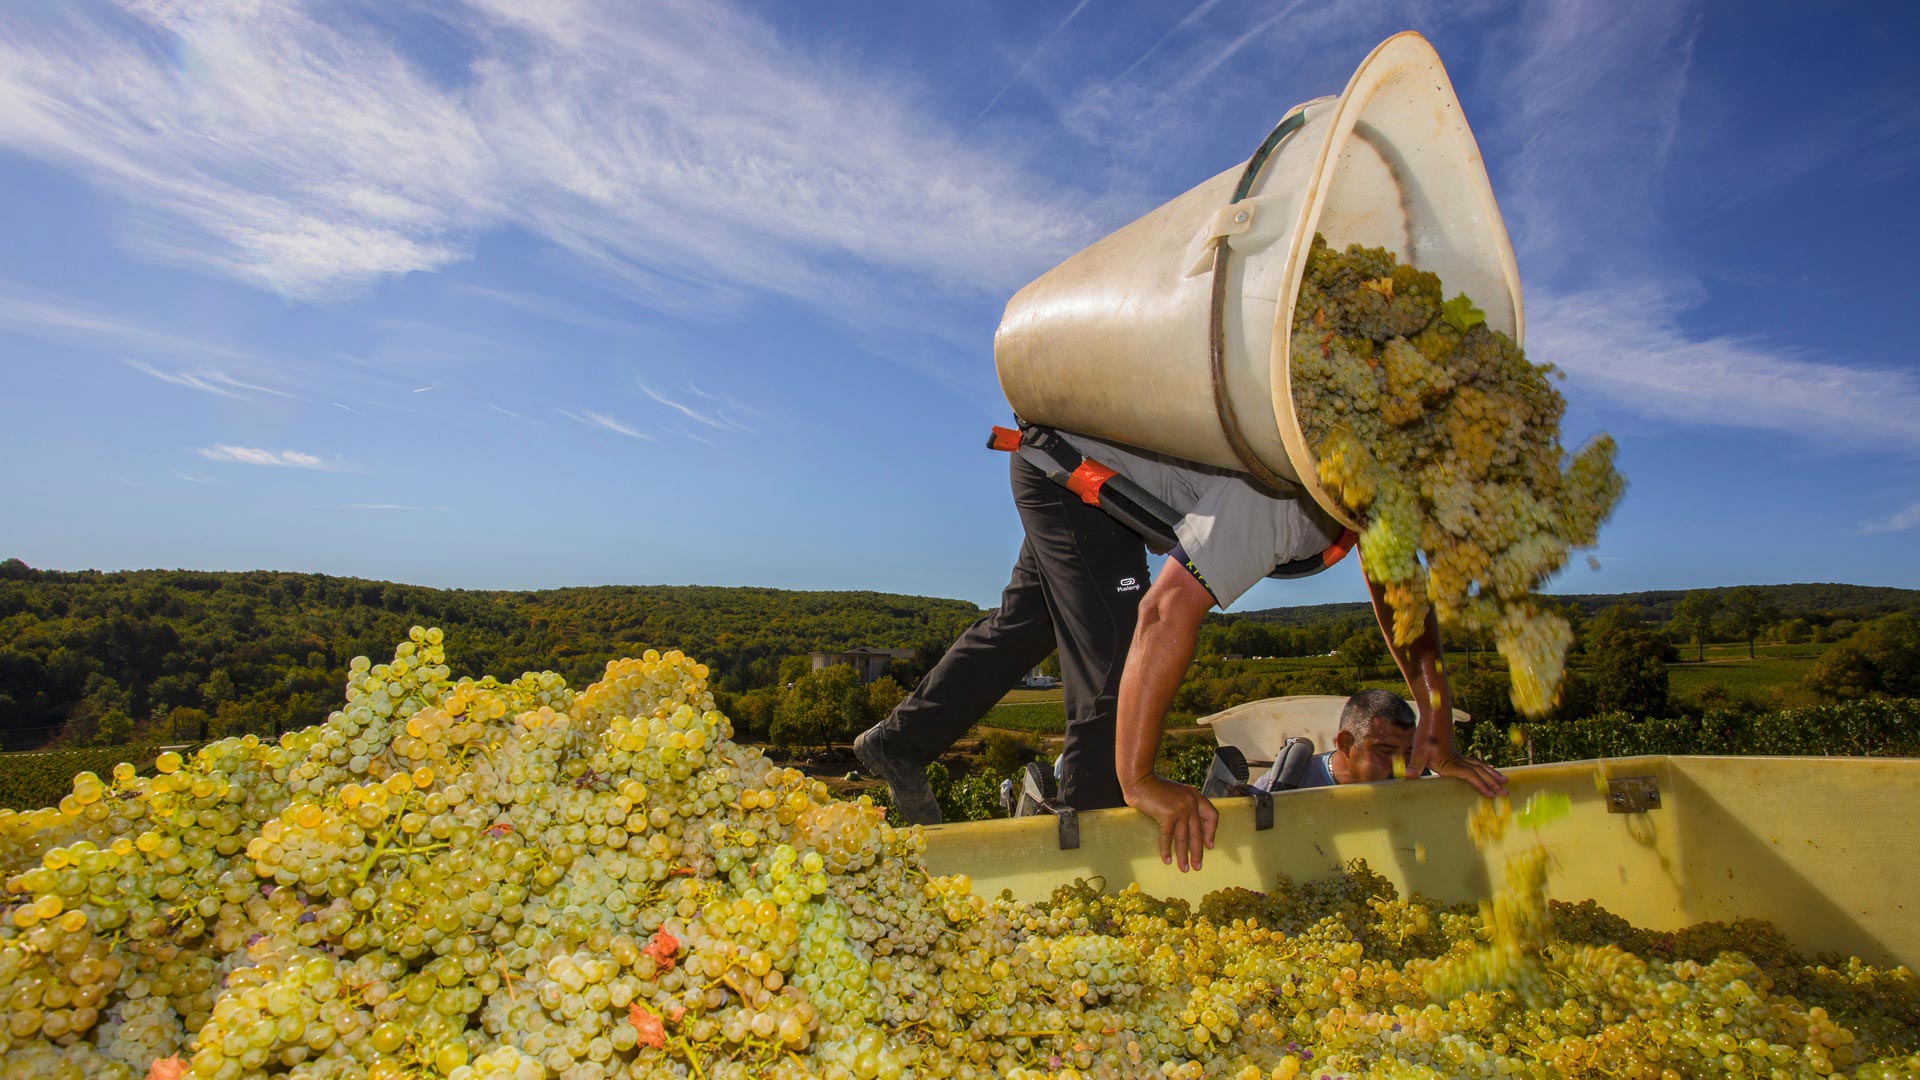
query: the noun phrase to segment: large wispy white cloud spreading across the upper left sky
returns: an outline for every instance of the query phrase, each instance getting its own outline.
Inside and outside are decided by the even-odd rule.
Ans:
[[[115,190],[146,252],[294,296],[445,267],[518,227],[659,307],[774,292],[883,311],[929,286],[1004,292],[1100,233],[1016,154],[929,171],[950,135],[904,73],[724,4],[438,13],[468,50],[459,85],[349,8],[10,6],[0,146]]]

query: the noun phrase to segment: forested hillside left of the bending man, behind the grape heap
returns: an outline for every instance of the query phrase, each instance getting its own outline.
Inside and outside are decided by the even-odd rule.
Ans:
[[[584,686],[611,659],[678,648],[708,663],[720,690],[739,692],[774,684],[781,659],[814,650],[937,657],[977,617],[966,601],[879,592],[480,592],[275,571],[36,571],[6,559],[0,740],[25,749],[319,723],[340,703],[348,661],[390,655],[413,625],[445,630],[461,673],[557,671]]]

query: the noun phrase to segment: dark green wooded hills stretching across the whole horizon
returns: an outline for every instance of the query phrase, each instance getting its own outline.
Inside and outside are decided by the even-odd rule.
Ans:
[[[1889,615],[1920,611],[1916,590],[1845,584],[1548,600],[1578,632],[1569,717],[1622,705],[1665,707],[1661,665],[1701,642],[1751,648],[1866,634],[1860,648],[1836,653],[1826,684],[1859,688],[1860,696],[1893,692],[1905,686],[1905,675],[1885,675],[1887,663],[1872,657],[1903,655],[1905,630],[1872,628]],[[36,571],[6,559],[0,561],[0,742],[6,749],[31,749],[305,726],[338,707],[351,657],[388,655],[413,625],[447,632],[449,661],[459,673],[511,678],[557,671],[574,686],[597,678],[611,659],[678,648],[712,669],[716,690],[726,707],[737,705],[743,724],[770,734],[785,688],[804,673],[806,653],[862,646],[914,650],[910,661],[891,671],[887,692],[897,694],[979,613],[958,600],[879,592],[718,586],[488,592],[275,571]],[[1260,696],[1338,692],[1380,665],[1379,646],[1365,603],[1213,617],[1202,628],[1198,663],[1177,707],[1198,715]],[[1484,651],[1490,642],[1450,634],[1450,648]],[[1223,665],[1229,657],[1332,653],[1342,657],[1340,665],[1306,675]],[[1348,663],[1352,673],[1342,675]],[[804,690],[828,694],[812,684]],[[864,690],[835,686],[829,696],[828,711],[849,717],[883,711],[883,701],[868,700]],[[1500,715],[1503,671],[1469,665],[1455,696],[1471,701],[1476,715]],[[787,705],[795,717],[806,711],[799,701]]]

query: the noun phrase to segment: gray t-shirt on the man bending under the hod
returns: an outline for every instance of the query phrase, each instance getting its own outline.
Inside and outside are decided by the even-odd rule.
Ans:
[[[1319,555],[1340,536],[1340,523],[1308,496],[1275,496],[1244,473],[1085,434],[1062,434],[1087,457],[1185,515],[1173,532],[1188,569],[1213,594],[1221,611],[1271,575],[1273,567]]]

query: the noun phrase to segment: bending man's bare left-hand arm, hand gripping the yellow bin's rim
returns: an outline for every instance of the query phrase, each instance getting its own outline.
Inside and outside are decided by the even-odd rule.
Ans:
[[[1140,598],[1140,615],[1119,676],[1114,771],[1127,805],[1160,822],[1160,861],[1200,869],[1219,815],[1187,784],[1154,773],[1167,707],[1194,659],[1200,621],[1213,596],[1187,567],[1167,559]]]

